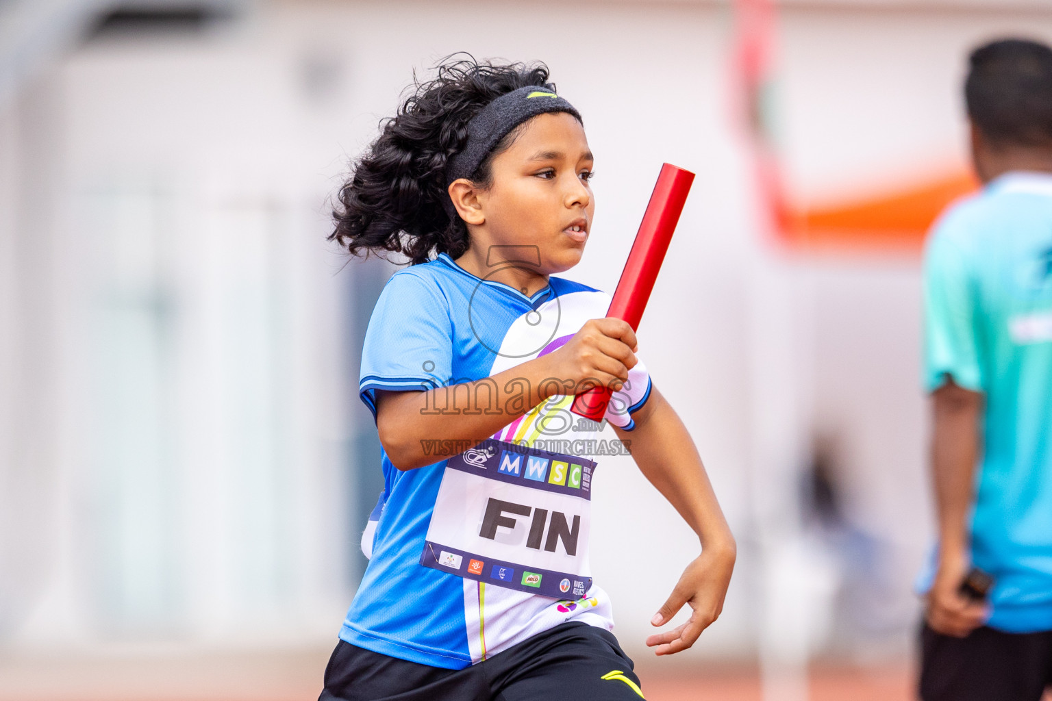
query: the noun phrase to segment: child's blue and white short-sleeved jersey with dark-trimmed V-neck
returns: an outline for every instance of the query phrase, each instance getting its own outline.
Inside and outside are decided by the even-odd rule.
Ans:
[[[503,283],[477,277],[440,254],[394,273],[380,295],[362,352],[362,400],[375,414],[378,389],[449,387],[513,368],[563,346],[588,319],[605,316],[609,304],[606,293],[560,277],[550,277],[547,287],[527,296]],[[433,410],[456,409],[452,394],[439,400],[452,406]],[[632,414],[649,395],[650,377],[641,362],[629,372],[624,389],[614,393],[605,420],[631,430]],[[484,407],[478,399],[477,406]],[[587,516],[580,527],[576,517],[557,523],[559,512],[550,504],[590,499],[592,470],[602,463],[602,456],[625,451],[619,441],[602,439],[601,425],[571,414],[572,399],[572,395],[552,396],[473,451],[427,467],[402,472],[382,455],[384,492],[362,541],[370,561],[340,631],[343,640],[404,660],[460,669],[568,620],[612,630],[609,598],[588,573]],[[448,455],[448,447],[438,442],[441,438],[424,437],[436,441],[437,455]],[[526,447],[529,454],[501,450],[515,446]],[[490,508],[485,515],[490,535],[484,537],[491,538],[498,550],[489,552],[507,547],[494,534],[500,531],[510,537],[511,527],[519,528],[515,515],[522,514],[518,523],[535,541],[527,547],[535,549],[537,557],[549,558],[543,562],[551,563],[551,570],[561,564],[561,572],[580,575],[580,581],[572,576],[560,580],[562,575],[552,581],[550,574],[541,574],[548,570],[515,571],[512,577],[513,563],[484,564],[482,556],[474,559],[466,550],[437,549],[427,555],[429,529],[432,540],[436,533],[454,539],[464,522],[474,524],[482,518],[468,513],[471,508],[458,513],[451,504],[462,493],[450,490],[462,478],[480,480],[480,475],[468,473],[472,465],[485,468],[487,459],[490,477],[501,481],[486,483],[519,493],[530,488],[530,494],[547,499],[546,509],[532,511],[532,525],[528,509],[519,512],[517,504],[498,501],[505,512],[497,510],[494,517]],[[530,481],[534,479],[540,481]],[[445,510],[443,523],[431,522],[437,501]],[[492,507],[494,499],[489,501]],[[505,528],[499,528],[502,524]],[[453,574],[453,569],[461,574]]]

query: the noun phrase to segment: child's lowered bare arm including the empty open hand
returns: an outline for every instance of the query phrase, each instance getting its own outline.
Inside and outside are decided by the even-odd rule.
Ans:
[[[671,596],[650,621],[664,625],[685,603],[693,610],[683,625],[647,638],[647,645],[656,646],[658,655],[669,655],[694,644],[702,631],[720,616],[736,547],[694,441],[656,387],[651,388],[650,398],[632,418],[634,430],[614,430],[623,440],[631,441],[640,471],[675,507],[697,534],[702,547],[702,554],[687,565]]]

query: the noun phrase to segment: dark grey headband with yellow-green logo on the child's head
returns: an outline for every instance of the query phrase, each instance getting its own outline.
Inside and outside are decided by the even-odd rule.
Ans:
[[[527,85],[505,92],[482,108],[467,123],[467,143],[446,165],[446,187],[460,178],[470,178],[501,139],[528,119],[547,112],[581,115],[566,100],[540,85]],[[443,203],[450,217],[457,215],[451,200]]]

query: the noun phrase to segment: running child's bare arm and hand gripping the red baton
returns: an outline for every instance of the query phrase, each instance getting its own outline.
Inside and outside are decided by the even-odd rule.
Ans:
[[[485,379],[426,392],[377,390],[380,442],[399,470],[431,465],[478,445],[548,397],[574,393],[583,383],[621,389],[635,366],[635,348],[626,322],[593,318],[559,350]],[[449,441],[450,450],[437,451],[438,440]]]

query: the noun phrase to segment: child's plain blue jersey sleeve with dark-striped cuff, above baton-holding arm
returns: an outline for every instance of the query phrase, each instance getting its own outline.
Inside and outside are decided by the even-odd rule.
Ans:
[[[410,269],[411,270],[411,269]],[[426,391],[452,374],[452,323],[439,286],[409,270],[384,286],[369,318],[358,385],[377,416],[376,390]]]

